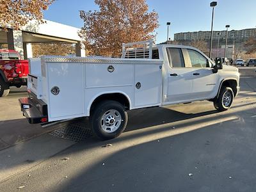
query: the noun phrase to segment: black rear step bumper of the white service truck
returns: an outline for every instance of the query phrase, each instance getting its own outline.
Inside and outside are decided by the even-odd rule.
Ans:
[[[20,108],[26,116],[29,124],[42,124],[48,122],[47,104],[36,97],[24,97],[19,99]]]

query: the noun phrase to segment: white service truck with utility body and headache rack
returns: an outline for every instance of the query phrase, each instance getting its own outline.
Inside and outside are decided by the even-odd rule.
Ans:
[[[122,58],[42,56],[30,60],[29,96],[19,102],[31,124],[89,116],[95,135],[109,140],[124,131],[127,110],[196,100],[230,108],[239,72],[216,61],[152,40],[123,44]]]

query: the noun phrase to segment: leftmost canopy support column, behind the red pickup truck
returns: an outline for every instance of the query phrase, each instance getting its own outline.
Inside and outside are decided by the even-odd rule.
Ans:
[[[19,52],[20,57],[24,59],[22,31],[8,29],[7,44],[8,44],[8,49],[12,49]]]

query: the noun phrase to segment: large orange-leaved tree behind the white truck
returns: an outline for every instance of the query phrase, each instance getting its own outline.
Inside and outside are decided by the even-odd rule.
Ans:
[[[80,11],[84,26],[79,35],[90,54],[120,56],[122,43],[156,36],[158,15],[148,12],[145,0],[95,0],[99,11]]]

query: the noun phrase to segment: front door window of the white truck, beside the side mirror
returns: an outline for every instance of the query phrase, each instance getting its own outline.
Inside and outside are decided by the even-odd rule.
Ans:
[[[192,49],[188,49],[189,58],[191,61],[191,67],[203,68],[209,67],[209,61],[200,52]]]

